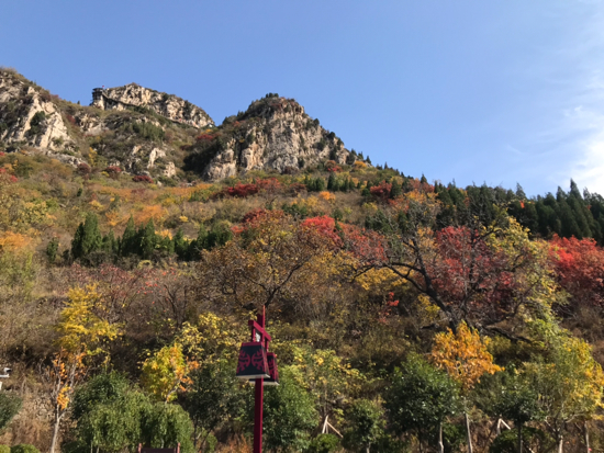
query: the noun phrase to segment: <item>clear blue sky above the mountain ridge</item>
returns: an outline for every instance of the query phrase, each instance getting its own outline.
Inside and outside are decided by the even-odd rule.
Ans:
[[[130,82],[217,123],[268,92],[405,174],[604,194],[604,3],[31,1],[0,65],[70,101]]]

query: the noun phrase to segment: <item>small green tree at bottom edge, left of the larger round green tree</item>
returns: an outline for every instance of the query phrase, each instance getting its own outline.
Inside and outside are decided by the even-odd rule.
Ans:
[[[345,445],[369,453],[371,445],[383,435],[382,417],[383,411],[374,401],[358,399],[353,403],[346,417],[350,427],[344,434]]]

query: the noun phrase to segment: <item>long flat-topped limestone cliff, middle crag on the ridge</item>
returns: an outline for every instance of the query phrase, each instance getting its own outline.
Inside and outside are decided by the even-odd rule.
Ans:
[[[126,110],[133,106],[149,109],[170,121],[193,127],[213,126],[214,121],[202,109],[172,94],[160,93],[136,83],[124,87],[94,89],[92,104],[102,110]]]

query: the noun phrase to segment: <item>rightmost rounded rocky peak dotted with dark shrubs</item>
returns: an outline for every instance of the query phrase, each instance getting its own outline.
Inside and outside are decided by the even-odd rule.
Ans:
[[[248,110],[206,131],[187,160],[210,181],[239,171],[295,171],[332,159],[344,163],[349,151],[294,100],[269,95]]]

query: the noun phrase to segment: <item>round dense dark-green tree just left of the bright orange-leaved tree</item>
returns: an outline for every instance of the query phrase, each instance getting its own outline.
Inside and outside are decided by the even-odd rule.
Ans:
[[[459,386],[447,373],[418,355],[411,355],[402,369],[394,370],[384,406],[398,434],[412,430],[420,442],[425,442],[437,429],[443,453],[443,423],[459,409]]]

